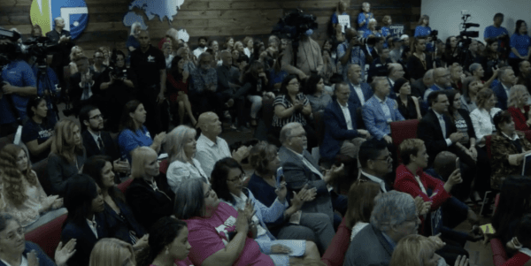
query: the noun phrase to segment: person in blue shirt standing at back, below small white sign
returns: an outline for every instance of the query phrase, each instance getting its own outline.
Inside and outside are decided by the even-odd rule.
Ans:
[[[345,42],[337,45],[337,57],[342,65],[343,80],[347,79],[349,66],[356,64],[361,66],[361,80],[365,80],[366,53],[361,49],[361,42],[358,39],[358,32],[353,28],[345,30]]]

